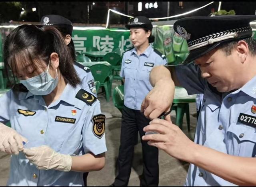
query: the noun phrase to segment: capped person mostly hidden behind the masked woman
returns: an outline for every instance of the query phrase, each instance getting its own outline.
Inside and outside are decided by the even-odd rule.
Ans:
[[[62,36],[64,37],[74,60],[74,68],[82,81],[82,88],[96,96],[96,87],[94,85],[94,78],[90,72],[90,69],[88,67],[84,67],[76,61],[74,42],[71,38],[73,26],[70,20],[64,18],[63,16],[52,14],[43,16],[40,24],[40,26],[55,26],[62,33]]]

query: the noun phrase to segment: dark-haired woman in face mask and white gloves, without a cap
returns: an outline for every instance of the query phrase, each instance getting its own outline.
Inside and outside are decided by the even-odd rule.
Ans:
[[[7,185],[82,186],[82,172],[104,167],[105,116],[79,87],[62,35],[17,27],[6,37],[4,65],[21,83],[0,98],[0,151],[12,154]]]

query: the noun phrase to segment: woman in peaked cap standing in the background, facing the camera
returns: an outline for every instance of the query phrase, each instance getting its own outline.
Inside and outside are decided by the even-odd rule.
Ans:
[[[133,18],[126,28],[130,29],[130,39],[134,48],[126,51],[122,59],[120,76],[124,78],[124,109],[122,111],[122,126],[120,148],[118,155],[118,175],[112,185],[127,186],[134,146],[137,143],[138,131],[140,137],[150,120],[140,112],[142,100],[152,89],[149,74],[153,67],[166,65],[164,55],[152,49],[154,41],[151,35],[152,24],[144,16]],[[143,177],[140,185],[157,186],[159,178],[158,149],[141,141],[143,154]]]

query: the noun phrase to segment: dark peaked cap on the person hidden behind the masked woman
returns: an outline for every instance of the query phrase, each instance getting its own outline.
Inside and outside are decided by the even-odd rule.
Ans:
[[[58,26],[65,30],[67,34],[72,35],[73,26],[72,22],[67,18],[59,15],[46,15],[41,18],[40,26]]]

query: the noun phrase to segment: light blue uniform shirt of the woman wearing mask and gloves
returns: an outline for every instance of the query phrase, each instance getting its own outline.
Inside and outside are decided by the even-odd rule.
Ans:
[[[0,98],[0,122],[10,121],[11,127],[28,139],[27,148],[46,145],[70,156],[104,153],[107,150],[104,124],[98,126],[95,120],[104,118],[100,102],[96,100],[90,105],[76,98],[81,91],[84,92],[67,84],[60,98],[46,106],[42,96],[11,90]],[[90,94],[83,96],[93,98]],[[76,171],[39,170],[20,152],[11,156],[7,185],[82,186],[82,176],[82,172]]]

